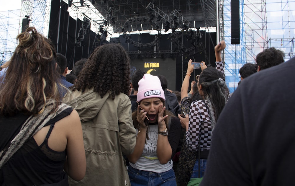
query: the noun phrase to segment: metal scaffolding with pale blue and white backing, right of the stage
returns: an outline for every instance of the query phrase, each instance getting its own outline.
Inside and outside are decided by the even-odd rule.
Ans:
[[[240,1],[240,45],[230,44],[230,0],[220,0],[219,11],[219,34],[221,39],[224,35],[227,44],[224,62],[230,92],[237,87],[242,65],[255,63],[257,54],[264,49],[275,47],[282,50],[285,53],[285,61],[294,56],[294,1]],[[224,23],[224,30],[220,22]]]

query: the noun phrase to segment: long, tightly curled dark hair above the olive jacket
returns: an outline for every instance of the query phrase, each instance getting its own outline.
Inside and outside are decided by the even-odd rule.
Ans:
[[[130,92],[130,58],[126,50],[118,44],[105,44],[97,47],[86,61],[79,78],[71,87],[72,91],[94,87],[101,98],[110,92],[115,96]]]

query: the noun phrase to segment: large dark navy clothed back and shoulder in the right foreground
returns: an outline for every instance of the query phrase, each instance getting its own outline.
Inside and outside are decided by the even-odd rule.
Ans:
[[[214,129],[202,186],[294,185],[294,68],[292,58],[237,88]]]

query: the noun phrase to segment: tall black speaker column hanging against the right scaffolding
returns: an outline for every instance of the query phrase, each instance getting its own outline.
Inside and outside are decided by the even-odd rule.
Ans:
[[[231,21],[231,44],[240,44],[240,2],[239,0],[230,1],[230,21]]]

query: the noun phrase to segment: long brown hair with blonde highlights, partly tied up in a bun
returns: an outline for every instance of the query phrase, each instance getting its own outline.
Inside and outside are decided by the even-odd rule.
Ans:
[[[56,52],[51,41],[28,27],[17,36],[17,45],[6,73],[1,76],[0,114],[43,112],[48,99],[54,99],[54,112],[60,102]],[[60,86],[61,87],[61,86]]]

